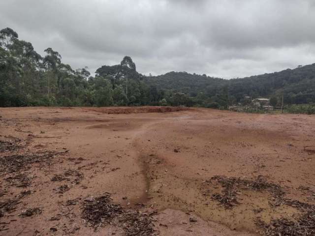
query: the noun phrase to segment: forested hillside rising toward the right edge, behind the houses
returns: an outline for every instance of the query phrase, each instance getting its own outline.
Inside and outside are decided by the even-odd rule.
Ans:
[[[280,97],[287,104],[315,102],[315,63],[280,72],[229,80],[229,91],[237,99],[244,94],[253,97]]]

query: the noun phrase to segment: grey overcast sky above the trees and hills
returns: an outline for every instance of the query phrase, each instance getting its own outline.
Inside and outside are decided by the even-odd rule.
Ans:
[[[315,63],[315,0],[0,0],[0,28],[72,68],[245,77]]]

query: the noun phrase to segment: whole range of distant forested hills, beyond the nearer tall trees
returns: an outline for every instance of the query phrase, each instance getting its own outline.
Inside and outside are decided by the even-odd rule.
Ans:
[[[216,102],[223,90],[227,90],[230,102],[238,102],[245,95],[280,98],[282,94],[287,104],[315,102],[315,63],[240,79],[223,80],[187,72],[169,72],[147,77],[146,82],[158,89],[181,91],[192,97],[203,93]]]

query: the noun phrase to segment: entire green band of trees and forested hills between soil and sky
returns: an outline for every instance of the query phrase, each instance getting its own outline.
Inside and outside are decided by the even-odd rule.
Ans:
[[[285,104],[315,102],[315,64],[224,80],[187,72],[145,76],[130,57],[91,76],[52,48],[41,56],[13,29],[0,30],[0,106],[202,106],[226,109],[244,96]]]

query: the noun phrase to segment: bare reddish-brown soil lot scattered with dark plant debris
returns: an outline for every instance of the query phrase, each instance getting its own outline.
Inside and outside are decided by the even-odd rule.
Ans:
[[[0,235],[314,236],[315,116],[0,108]]]

